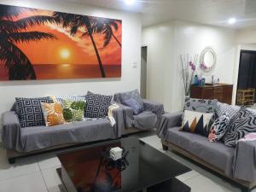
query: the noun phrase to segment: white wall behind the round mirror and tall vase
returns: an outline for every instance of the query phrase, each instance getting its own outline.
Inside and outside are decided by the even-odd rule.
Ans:
[[[162,34],[160,29],[165,29],[166,34]],[[150,39],[150,35],[154,38]],[[154,68],[157,69],[154,73],[148,74],[148,79],[156,81],[160,79],[159,82],[148,84],[149,90],[159,90],[149,94],[149,98],[163,102],[167,111],[181,110],[184,91],[178,56],[200,55],[201,50],[207,46],[211,46],[217,52],[217,64],[211,73],[203,74],[203,77],[209,82],[211,75],[214,74],[221,82],[232,84],[236,55],[235,38],[236,32],[231,29],[183,21],[172,21],[144,28],[143,45],[148,45],[152,54],[148,52],[148,63],[151,65],[153,63]],[[163,74],[166,74],[166,79],[163,78]],[[165,86],[160,86],[162,82]]]

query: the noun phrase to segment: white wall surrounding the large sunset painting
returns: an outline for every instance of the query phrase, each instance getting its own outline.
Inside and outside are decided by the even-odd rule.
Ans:
[[[140,63],[141,59],[141,15],[112,9],[85,6],[84,4],[78,3],[63,3],[61,1],[0,0],[0,3],[123,20],[121,79],[72,79],[0,82],[0,113],[9,110],[12,103],[15,101],[16,96],[85,94],[87,90],[102,94],[113,94],[117,91],[140,88],[140,66],[138,65],[137,68],[133,68],[131,67],[131,64],[134,61]]]

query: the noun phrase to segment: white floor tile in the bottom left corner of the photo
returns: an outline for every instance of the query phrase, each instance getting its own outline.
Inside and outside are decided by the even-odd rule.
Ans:
[[[2,192],[47,192],[41,172],[14,177],[0,182]]]

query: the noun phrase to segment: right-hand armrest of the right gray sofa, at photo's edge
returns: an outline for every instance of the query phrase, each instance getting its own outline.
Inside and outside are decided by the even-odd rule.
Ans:
[[[233,161],[235,178],[248,182],[256,181],[256,141],[239,141],[236,143]]]

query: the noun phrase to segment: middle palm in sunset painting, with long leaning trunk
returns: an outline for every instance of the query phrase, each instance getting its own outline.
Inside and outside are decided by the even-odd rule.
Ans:
[[[53,16],[55,17],[56,22],[61,23],[64,28],[70,27],[71,35],[77,34],[77,32],[79,31],[79,28],[85,29],[83,36],[87,36],[90,38],[90,41],[96,52],[96,57],[99,64],[100,71],[102,73],[102,78],[106,78],[106,73],[102,66],[102,59],[96,47],[95,39],[93,37],[93,33],[95,30],[93,28],[94,26],[92,25],[93,23],[92,17],[86,16],[86,15],[65,14],[61,12],[54,12]]]

